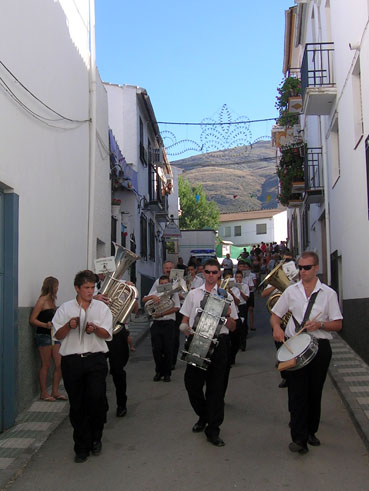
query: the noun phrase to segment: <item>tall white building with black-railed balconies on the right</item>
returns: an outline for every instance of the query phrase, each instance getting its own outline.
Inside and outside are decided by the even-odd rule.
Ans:
[[[318,252],[323,279],[339,294],[342,335],[368,362],[369,4],[295,4],[286,12],[284,72],[301,79],[307,148],[290,241]]]

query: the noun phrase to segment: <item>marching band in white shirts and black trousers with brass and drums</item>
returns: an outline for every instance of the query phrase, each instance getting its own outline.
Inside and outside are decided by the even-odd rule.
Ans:
[[[63,304],[52,320],[54,339],[61,342],[61,366],[71,406],[77,463],[86,461],[90,453],[99,455],[102,450],[108,408],[107,360],[116,386],[116,415],[127,413],[126,322],[130,313],[138,309],[138,292],[121,276],[137,258],[119,246],[115,271],[105,276],[99,291],[94,291],[96,275],[92,271],[78,273],[76,300]],[[335,292],[317,278],[318,268],[315,253],[303,253],[296,268],[287,251],[283,261],[258,283],[250,263],[243,258],[234,275],[233,268],[227,267],[223,281],[216,259],[209,259],[204,265],[189,264],[187,271],[183,267],[174,268],[171,261],[163,264],[163,274],[142,298],[145,313],[151,319],[153,381],[171,381],[182,331],[186,336],[180,356],[186,362],[185,388],[198,417],[193,432],[204,431],[208,442],[217,447],[225,445],[219,434],[229,373],[237,352],[246,349],[248,326],[255,330],[255,292],[267,284],[262,296],[269,296],[267,307],[272,315],[273,337],[278,343],[279,370],[288,387],[292,437],[289,449],[304,454],[307,444],[320,444],[315,434],[331,356],[329,331],[341,328],[342,315]],[[311,312],[315,314],[312,320]],[[300,335],[303,330],[305,333]],[[312,384],[317,385],[317,395],[310,401],[308,387]],[[86,400],[77,394],[84,394]]]

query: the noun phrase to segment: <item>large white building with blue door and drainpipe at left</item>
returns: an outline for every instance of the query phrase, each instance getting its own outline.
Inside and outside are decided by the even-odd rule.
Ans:
[[[60,304],[76,272],[110,252],[107,98],[89,5],[2,4],[0,431],[39,391],[28,319],[44,278],[58,278]]]

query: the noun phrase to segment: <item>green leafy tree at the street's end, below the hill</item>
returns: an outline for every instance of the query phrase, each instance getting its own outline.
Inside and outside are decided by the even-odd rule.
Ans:
[[[219,210],[214,201],[208,201],[201,184],[191,186],[182,176],[178,179],[178,192],[182,215],[179,227],[185,230],[217,229]]]

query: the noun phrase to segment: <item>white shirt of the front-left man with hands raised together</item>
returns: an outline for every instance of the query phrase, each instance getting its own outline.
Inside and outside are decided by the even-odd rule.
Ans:
[[[53,323],[53,338],[55,333],[67,324],[72,317],[79,317],[80,325],[76,329],[70,329],[64,339],[57,341],[61,342],[59,353],[61,356],[82,354],[82,353],[106,353],[108,346],[105,341],[112,339],[113,316],[104,302],[99,300],[91,300],[87,310],[84,310],[77,300],[70,300],[63,303],[56,311]],[[87,334],[85,331],[87,322],[93,322],[98,327],[102,327],[109,333],[109,338],[106,340],[96,336],[96,334]]]

